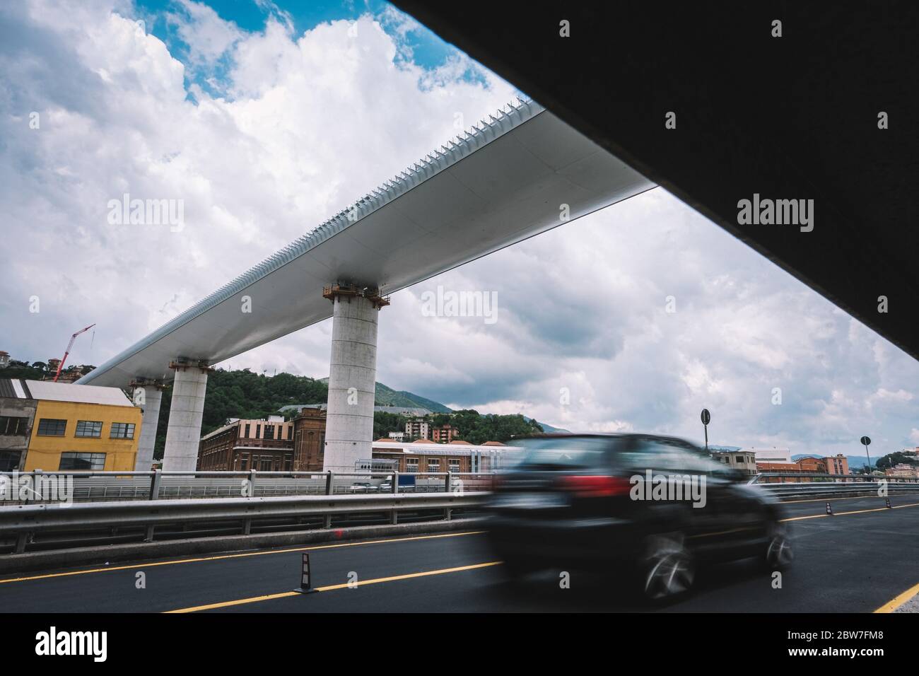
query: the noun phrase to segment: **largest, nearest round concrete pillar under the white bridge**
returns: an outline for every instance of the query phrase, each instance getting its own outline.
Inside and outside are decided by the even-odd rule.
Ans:
[[[326,287],[323,295],[335,304],[323,470],[354,472],[358,460],[371,457],[377,321],[389,300],[350,284]]]

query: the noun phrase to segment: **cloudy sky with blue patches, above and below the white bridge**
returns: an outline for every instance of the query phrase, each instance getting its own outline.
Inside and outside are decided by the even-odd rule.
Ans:
[[[4,2],[0,349],[95,322],[72,359],[106,361],[518,93],[381,2]],[[126,192],[186,226],[108,223]],[[496,321],[425,316],[438,285]],[[324,376],[330,333],[229,365]],[[713,443],[919,445],[919,364],[663,189],[394,294],[378,380],[571,430],[699,440],[709,407]]]

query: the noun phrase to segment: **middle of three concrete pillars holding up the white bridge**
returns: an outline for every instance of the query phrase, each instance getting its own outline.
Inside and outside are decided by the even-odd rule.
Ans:
[[[169,405],[169,427],[163,469],[194,472],[198,463],[201,439],[201,419],[204,417],[204,395],[208,389],[206,364],[176,360],[169,364],[175,369],[173,397]]]

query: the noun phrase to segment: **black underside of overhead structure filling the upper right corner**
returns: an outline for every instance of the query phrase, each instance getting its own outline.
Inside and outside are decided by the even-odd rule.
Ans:
[[[914,3],[394,3],[919,358]],[[754,193],[813,230],[738,223]]]

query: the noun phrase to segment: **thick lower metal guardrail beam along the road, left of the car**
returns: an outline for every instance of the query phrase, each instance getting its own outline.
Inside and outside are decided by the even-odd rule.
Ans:
[[[332,528],[361,522],[449,520],[482,492],[170,499],[23,505],[0,510],[0,552],[154,539]],[[337,523],[336,523],[337,521]]]

